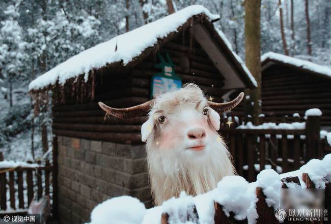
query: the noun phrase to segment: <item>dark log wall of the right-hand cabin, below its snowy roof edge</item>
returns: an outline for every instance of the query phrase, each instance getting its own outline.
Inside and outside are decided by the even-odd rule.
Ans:
[[[331,126],[331,80],[285,66],[274,65],[262,72],[262,113],[277,117],[305,115],[319,108],[321,124]]]

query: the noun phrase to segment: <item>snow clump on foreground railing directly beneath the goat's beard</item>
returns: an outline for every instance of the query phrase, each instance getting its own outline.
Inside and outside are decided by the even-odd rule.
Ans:
[[[169,214],[169,224],[197,223],[198,217],[194,213],[194,199],[184,191],[179,198],[172,198],[162,204],[162,213]]]

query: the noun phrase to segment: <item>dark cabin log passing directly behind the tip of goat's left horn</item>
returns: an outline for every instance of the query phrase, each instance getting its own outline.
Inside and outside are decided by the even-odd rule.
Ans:
[[[139,105],[149,101],[148,98],[141,98],[141,97],[127,97],[121,98],[116,100],[108,100],[104,101],[103,103],[107,104],[111,107],[116,108],[125,108],[131,107],[134,105]],[[98,110],[100,109],[98,103],[91,103],[91,104],[76,104],[76,105],[62,105],[62,106],[54,106],[53,111],[76,111],[76,110]]]

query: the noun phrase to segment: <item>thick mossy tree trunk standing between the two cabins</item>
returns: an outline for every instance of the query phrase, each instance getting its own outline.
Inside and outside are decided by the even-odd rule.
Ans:
[[[261,114],[261,0],[249,0],[245,6],[245,55],[246,65],[258,83],[256,89],[245,91],[245,112],[253,116],[253,123]]]

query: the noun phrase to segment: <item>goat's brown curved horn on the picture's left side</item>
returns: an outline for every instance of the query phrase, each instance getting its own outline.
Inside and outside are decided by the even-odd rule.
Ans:
[[[106,115],[109,114],[118,118],[134,118],[147,114],[153,102],[154,100],[150,100],[146,103],[128,108],[112,108],[102,102],[99,102],[99,106],[106,112]]]

